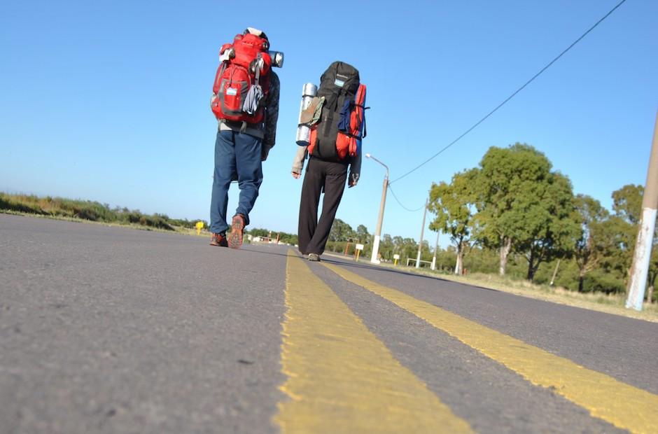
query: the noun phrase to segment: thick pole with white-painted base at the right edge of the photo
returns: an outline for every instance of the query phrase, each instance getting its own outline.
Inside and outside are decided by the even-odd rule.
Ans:
[[[642,218],[640,219],[638,239],[635,244],[633,265],[631,265],[631,279],[628,286],[629,297],[626,299],[627,309],[642,310],[644,291],[647,288],[653,233],[656,227],[656,209],[658,209],[658,112],[654,124],[647,183],[642,198]]]

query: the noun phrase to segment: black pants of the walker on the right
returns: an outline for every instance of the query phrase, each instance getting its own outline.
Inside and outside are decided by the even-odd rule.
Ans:
[[[300,202],[299,236],[302,254],[324,252],[347,179],[346,162],[328,162],[310,158],[304,174]],[[322,214],[318,221],[320,194],[324,190]]]

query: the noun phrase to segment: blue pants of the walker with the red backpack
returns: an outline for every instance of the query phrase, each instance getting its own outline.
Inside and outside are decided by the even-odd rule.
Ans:
[[[260,161],[260,139],[235,131],[218,131],[215,141],[215,174],[213,176],[213,193],[210,202],[210,230],[223,232],[228,229],[226,207],[228,206],[228,188],[237,174],[240,197],[235,214],[244,216],[244,223],[249,223],[249,211],[258,197],[258,188],[262,182],[262,163]]]

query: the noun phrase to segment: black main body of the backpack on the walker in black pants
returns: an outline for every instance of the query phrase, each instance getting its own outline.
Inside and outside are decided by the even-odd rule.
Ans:
[[[344,62],[333,62],[322,74],[318,97],[325,97],[325,102],[316,127],[316,143],[311,144],[310,151],[314,157],[341,161],[336,149],[340,112],[346,100],[354,99],[359,84],[358,70]]]

